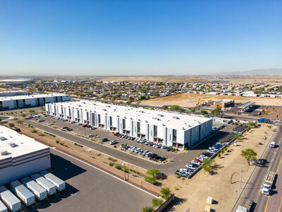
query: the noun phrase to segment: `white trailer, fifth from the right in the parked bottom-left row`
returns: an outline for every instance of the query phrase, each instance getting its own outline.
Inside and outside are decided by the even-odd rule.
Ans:
[[[12,212],[20,211],[21,203],[20,200],[10,192],[6,187],[0,187],[0,199]]]

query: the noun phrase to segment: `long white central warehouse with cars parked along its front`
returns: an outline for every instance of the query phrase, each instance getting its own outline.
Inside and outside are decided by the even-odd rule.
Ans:
[[[212,132],[212,119],[94,101],[46,104],[47,114],[109,131],[185,148]]]

